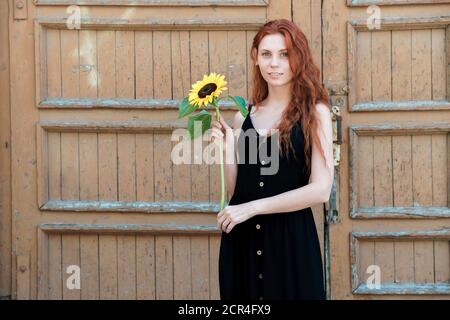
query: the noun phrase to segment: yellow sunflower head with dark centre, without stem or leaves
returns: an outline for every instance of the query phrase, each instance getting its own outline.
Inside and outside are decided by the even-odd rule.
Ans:
[[[204,75],[203,80],[197,81],[192,85],[189,91],[189,103],[198,107],[205,107],[213,102],[214,98],[218,98],[222,91],[227,90],[225,87],[227,82],[224,80],[225,76],[211,73]]]

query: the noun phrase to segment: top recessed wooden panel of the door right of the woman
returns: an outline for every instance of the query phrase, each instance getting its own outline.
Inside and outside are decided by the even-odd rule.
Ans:
[[[363,21],[348,23],[351,110],[448,109],[448,21],[442,17],[391,20],[377,31]]]

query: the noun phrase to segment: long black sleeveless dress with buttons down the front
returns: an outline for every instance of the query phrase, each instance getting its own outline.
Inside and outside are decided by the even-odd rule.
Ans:
[[[238,144],[238,173],[236,187],[229,205],[271,197],[308,184],[303,153],[304,137],[300,126],[291,130],[291,141],[297,160],[279,154],[276,174],[261,174],[269,167],[257,156],[249,157],[251,134],[271,155],[272,138],[262,137],[254,128],[252,105],[242,124]],[[242,140],[244,139],[244,140]],[[278,139],[273,139],[278,143]],[[245,149],[245,154],[242,154]],[[261,161],[260,161],[261,160]],[[325,299],[322,257],[311,208],[256,215],[237,224],[230,233],[222,232],[219,254],[219,285],[222,300],[293,300]]]

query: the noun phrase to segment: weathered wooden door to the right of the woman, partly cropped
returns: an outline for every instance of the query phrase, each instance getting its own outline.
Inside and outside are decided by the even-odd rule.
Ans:
[[[323,6],[343,119],[331,298],[449,298],[450,2]]]

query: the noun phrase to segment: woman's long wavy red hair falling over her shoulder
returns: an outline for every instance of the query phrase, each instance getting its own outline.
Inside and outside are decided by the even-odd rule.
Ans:
[[[324,103],[329,109],[330,106],[328,104],[328,93],[320,80],[320,70],[313,61],[308,40],[295,23],[286,19],[269,21],[253,38],[253,45],[250,51],[253,61],[253,91],[251,99],[257,110],[259,104],[269,94],[267,82],[261,75],[256,62],[258,47],[262,39],[266,35],[276,33],[281,33],[285,38],[289,65],[294,74],[292,79],[292,99],[283,112],[282,119],[278,125],[280,149],[283,155],[289,155],[289,150],[292,150],[294,157],[296,157],[290,136],[293,126],[299,123],[305,137],[305,169],[309,177],[311,174],[312,143],[317,144],[325,161],[325,154],[317,134],[319,120],[317,119],[315,106],[318,102]]]

